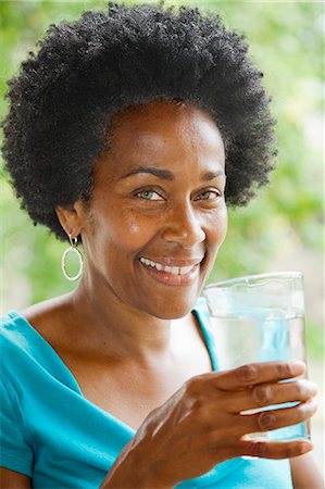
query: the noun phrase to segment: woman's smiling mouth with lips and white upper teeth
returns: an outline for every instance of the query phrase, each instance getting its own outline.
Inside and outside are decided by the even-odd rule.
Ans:
[[[155,278],[165,285],[171,286],[186,286],[191,285],[198,273],[200,263],[203,259],[195,260],[174,260],[162,259],[161,261],[153,261],[146,256],[140,256],[139,261],[143,268]]]

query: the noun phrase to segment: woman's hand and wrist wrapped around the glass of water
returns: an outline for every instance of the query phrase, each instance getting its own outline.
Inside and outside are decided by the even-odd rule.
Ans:
[[[172,488],[240,455],[287,459],[312,449],[308,440],[255,441],[246,435],[295,425],[311,417],[316,387],[300,376],[301,362],[272,362],[204,374],[188,380],[152,411],[124,448],[102,488]],[[295,408],[240,414],[298,401]]]

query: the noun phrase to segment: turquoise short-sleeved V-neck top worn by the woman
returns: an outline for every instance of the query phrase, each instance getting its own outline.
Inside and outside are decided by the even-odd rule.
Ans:
[[[213,369],[203,299],[195,308]],[[98,489],[135,430],[89,402],[53,348],[18,313],[1,319],[1,466],[37,489]],[[215,413],[217,416],[217,413]],[[232,459],[185,488],[292,489],[289,461]]]

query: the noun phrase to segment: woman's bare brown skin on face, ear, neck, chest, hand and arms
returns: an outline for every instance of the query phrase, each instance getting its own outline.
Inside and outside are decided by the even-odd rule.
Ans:
[[[314,414],[316,388],[298,378],[304,365],[212,373],[190,312],[227,229],[225,153],[214,121],[196,106],[155,101],[115,116],[110,134],[109,150],[95,164],[90,204],[57,209],[66,234],[83,238],[80,284],[74,293],[24,312],[85,397],[137,430],[101,487],[172,488],[234,456],[300,455],[292,464],[295,488],[321,489],[303,455],[311,442],[246,437]],[[141,256],[196,266],[176,278],[153,272]],[[293,381],[278,384],[285,378]],[[110,399],[108,391],[114,392]],[[288,401],[300,403],[240,415]],[[301,476],[305,471],[312,486]],[[32,482],[3,469],[1,488],[10,487]]]

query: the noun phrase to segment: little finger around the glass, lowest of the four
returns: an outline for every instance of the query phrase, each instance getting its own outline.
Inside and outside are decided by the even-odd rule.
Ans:
[[[291,459],[302,455],[313,449],[309,440],[293,441],[261,441],[246,440],[239,441],[238,451],[240,455],[259,456],[263,459]]]

